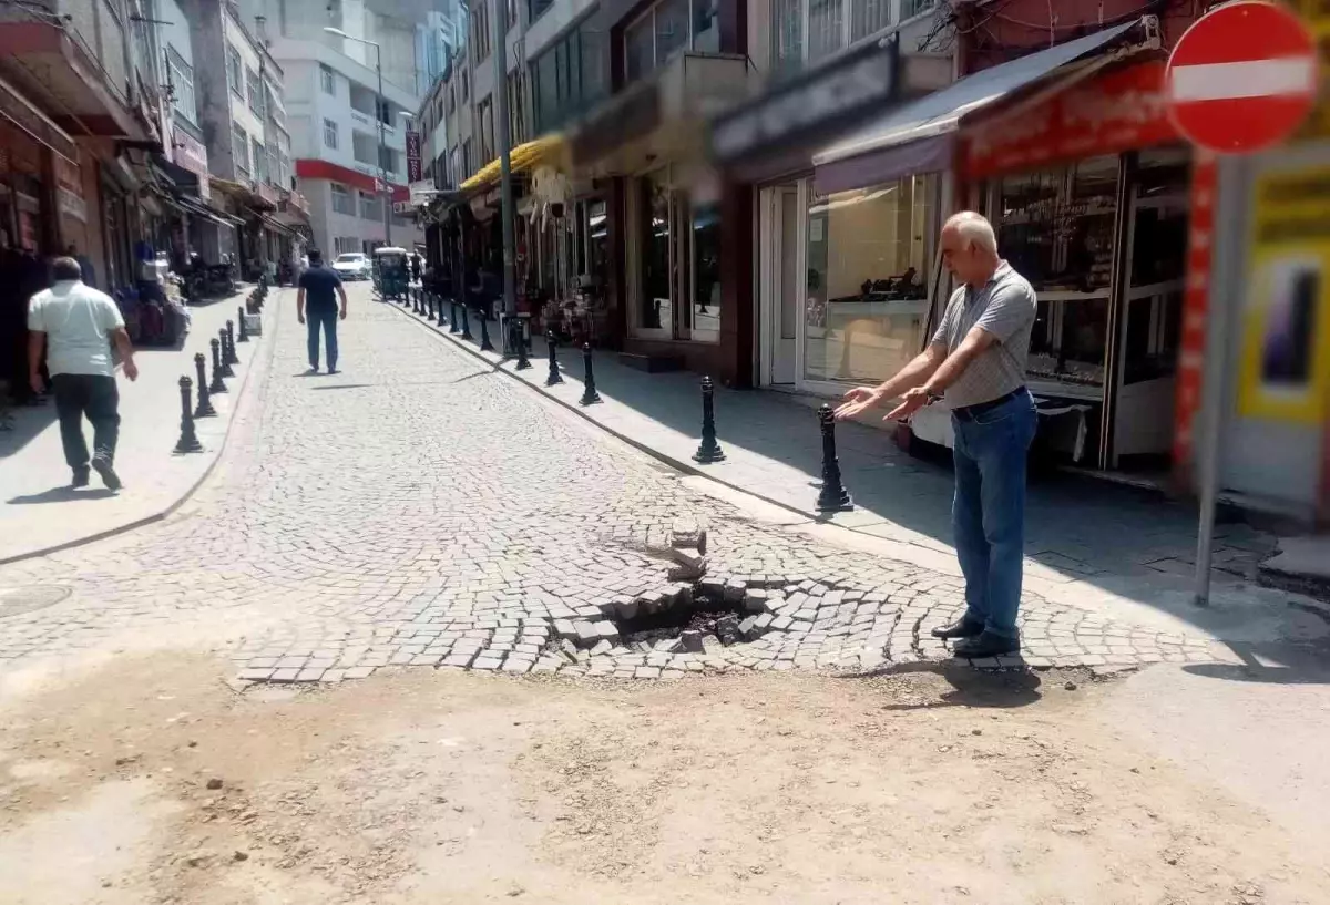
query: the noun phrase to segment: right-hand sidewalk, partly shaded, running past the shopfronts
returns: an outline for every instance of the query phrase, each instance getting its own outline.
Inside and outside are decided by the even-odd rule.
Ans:
[[[479,351],[477,324],[471,324],[477,339],[466,343],[450,335],[447,326],[436,327],[410,308],[396,307],[489,367],[674,468],[802,517],[809,533],[834,530],[827,525],[850,529],[866,550],[959,574],[951,544],[950,461],[912,457],[886,431],[862,424],[837,427],[841,470],[855,509],[833,516],[817,512],[822,437],[814,407],[825,400],[717,387],[717,435],[726,458],[698,465],[692,458],[701,435],[698,375],[644,373],[620,364],[613,352],[597,352],[596,387],[604,401],[583,407],[577,350],[559,350],[564,383],[545,387],[543,342],[536,343],[532,368],[519,372],[515,361]],[[491,338],[499,343],[497,326],[491,326]],[[843,532],[837,534],[845,537]],[[1279,638],[1290,602],[1315,606],[1295,594],[1258,586],[1257,565],[1274,550],[1275,538],[1244,524],[1228,524],[1217,530],[1212,606],[1196,607],[1196,538],[1197,514],[1189,504],[1083,476],[1040,474],[1029,486],[1025,587],[1049,601],[1116,619],[1240,642]]]

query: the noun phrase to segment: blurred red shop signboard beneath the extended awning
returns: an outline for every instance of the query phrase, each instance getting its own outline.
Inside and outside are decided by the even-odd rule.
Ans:
[[[980,179],[1177,140],[1164,97],[1164,64],[1152,60],[967,126],[962,167],[966,178]]]

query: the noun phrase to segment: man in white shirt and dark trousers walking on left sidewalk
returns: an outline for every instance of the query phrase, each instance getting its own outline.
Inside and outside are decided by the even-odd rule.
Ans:
[[[55,286],[37,292],[28,303],[28,381],[33,392],[43,392],[41,352],[45,346],[60,440],[73,472],[73,486],[88,485],[90,465],[108,488],[118,490],[114,461],[120,391],[110,348],[114,343],[130,380],[138,379],[134,350],[114,299],[82,282],[76,259],[56,258],[51,275]],[[90,461],[82,433],[84,416],[93,427]]]

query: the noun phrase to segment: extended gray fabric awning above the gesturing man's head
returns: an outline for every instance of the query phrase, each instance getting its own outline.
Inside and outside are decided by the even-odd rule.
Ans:
[[[814,182],[818,194],[859,189],[876,182],[898,179],[912,173],[944,170],[950,166],[952,137],[966,116],[984,109],[1011,94],[1031,88],[1081,61],[1096,58],[1092,66],[1121,58],[1104,54],[1109,47],[1125,45],[1129,53],[1154,44],[1129,44],[1134,37],[1145,41],[1145,20],[1138,19],[1101,32],[1087,35],[967,76],[958,82],[916,101],[898,106],[872,125],[855,132],[813,155]],[[1081,74],[1085,66],[1076,66]]]

